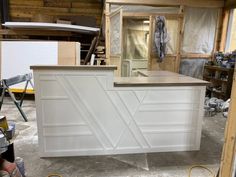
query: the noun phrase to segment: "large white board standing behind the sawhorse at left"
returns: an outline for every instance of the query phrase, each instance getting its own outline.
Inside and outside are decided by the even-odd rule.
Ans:
[[[58,42],[4,41],[1,45],[2,79],[30,73],[30,65],[57,64]],[[24,88],[24,85],[17,84],[14,88]]]

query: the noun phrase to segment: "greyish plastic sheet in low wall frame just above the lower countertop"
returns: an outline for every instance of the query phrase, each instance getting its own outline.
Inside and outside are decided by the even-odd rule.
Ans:
[[[179,73],[195,77],[198,79],[203,78],[203,70],[204,65],[206,63],[206,59],[184,59],[180,62]]]

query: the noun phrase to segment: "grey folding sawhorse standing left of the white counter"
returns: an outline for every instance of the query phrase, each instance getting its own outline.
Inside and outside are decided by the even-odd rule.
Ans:
[[[15,77],[11,77],[9,79],[2,79],[1,83],[0,83],[0,95],[1,95],[1,97],[0,97],[0,110],[2,108],[5,93],[8,92],[11,99],[15,103],[17,109],[20,111],[20,114],[22,115],[24,120],[27,122],[28,119],[27,119],[27,117],[26,117],[26,115],[25,115],[25,113],[24,113],[24,111],[22,110],[21,107],[22,107],[24,96],[25,96],[25,93],[26,93],[26,90],[27,90],[27,87],[28,87],[29,83],[32,87],[34,87],[31,79],[32,79],[32,74],[31,73],[27,73],[27,74],[24,74],[24,75],[18,75],[18,76],[15,76]],[[25,88],[22,92],[21,98],[19,100],[17,100],[15,98],[14,93],[11,92],[10,86],[15,85],[15,84],[19,84],[19,83],[22,83],[22,82],[26,82],[25,83]]]

